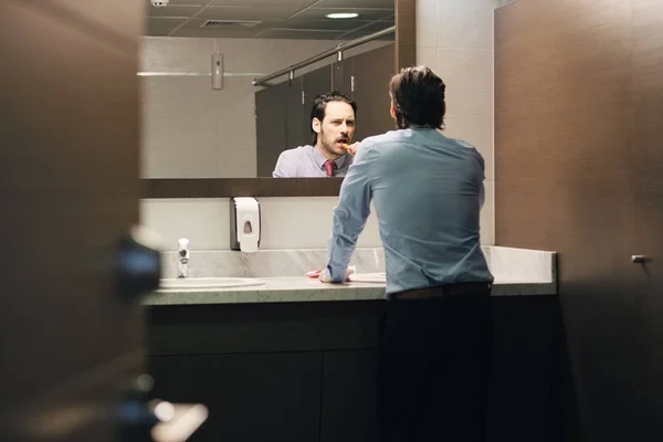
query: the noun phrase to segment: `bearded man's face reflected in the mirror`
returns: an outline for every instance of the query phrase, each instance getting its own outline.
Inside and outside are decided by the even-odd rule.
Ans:
[[[345,102],[329,102],[325,107],[325,117],[320,123],[313,120],[313,129],[317,131],[317,145],[328,159],[336,159],[346,154],[344,144],[351,144],[355,135],[355,110]]]

